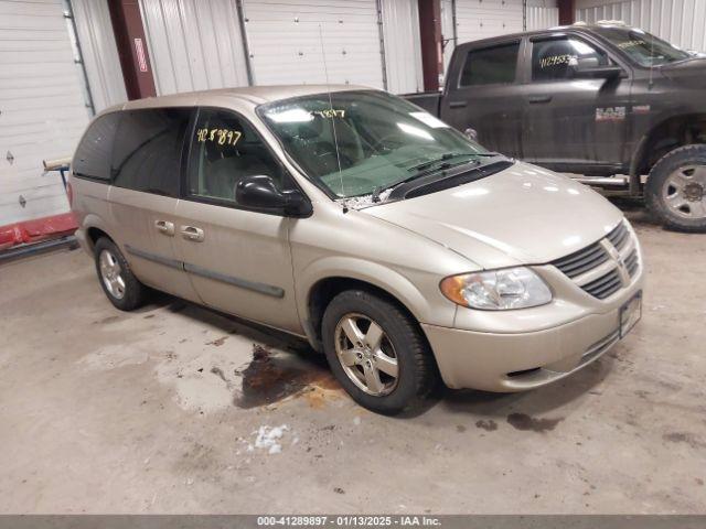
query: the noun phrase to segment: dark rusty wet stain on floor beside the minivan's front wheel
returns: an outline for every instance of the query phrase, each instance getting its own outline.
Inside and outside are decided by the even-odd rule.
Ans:
[[[306,368],[295,367],[287,358],[272,356],[268,349],[255,344],[250,364],[242,371],[236,371],[243,377],[243,389],[233,403],[245,409],[268,406],[309,388],[306,393],[309,404],[312,408],[322,407],[325,400],[323,392],[340,389],[323,366],[312,359]]]

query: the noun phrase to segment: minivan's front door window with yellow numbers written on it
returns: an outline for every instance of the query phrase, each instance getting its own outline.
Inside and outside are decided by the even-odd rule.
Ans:
[[[201,110],[192,139],[189,193],[235,203],[237,183],[256,174],[282,185],[282,169],[255,129],[231,111]]]

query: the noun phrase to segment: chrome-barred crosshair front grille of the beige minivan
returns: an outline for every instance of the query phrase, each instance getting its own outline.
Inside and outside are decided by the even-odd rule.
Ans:
[[[601,240],[552,261],[593,298],[603,300],[627,287],[640,269],[638,246],[625,222]]]

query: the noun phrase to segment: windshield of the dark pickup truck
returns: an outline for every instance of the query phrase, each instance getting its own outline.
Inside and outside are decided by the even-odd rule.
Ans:
[[[645,68],[691,58],[683,50],[637,28],[608,26],[597,31]]]

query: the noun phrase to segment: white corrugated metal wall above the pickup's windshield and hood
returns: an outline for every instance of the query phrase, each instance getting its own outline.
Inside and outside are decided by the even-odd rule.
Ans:
[[[685,50],[706,51],[706,0],[625,0],[581,8],[576,20],[622,20]]]

